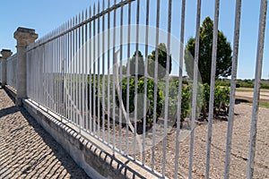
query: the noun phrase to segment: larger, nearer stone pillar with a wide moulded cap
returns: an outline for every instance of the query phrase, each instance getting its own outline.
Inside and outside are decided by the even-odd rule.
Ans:
[[[22,98],[26,98],[27,91],[27,49],[26,47],[35,42],[38,34],[35,30],[18,28],[14,32],[14,38],[17,40],[17,57],[18,57],[18,79],[17,79],[17,96],[16,106],[22,106]]]

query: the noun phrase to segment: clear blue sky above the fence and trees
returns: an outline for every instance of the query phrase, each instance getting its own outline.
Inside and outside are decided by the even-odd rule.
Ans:
[[[142,1],[141,17],[145,15],[145,6]],[[152,12],[154,12],[152,0]],[[161,29],[166,30],[167,5],[166,1],[161,0]],[[82,12],[93,4],[94,0],[3,0],[1,3],[1,27],[0,27],[0,48],[12,49],[15,52],[16,41],[13,38],[13,32],[18,27],[27,27],[35,29],[39,38],[46,35],[51,30],[56,29],[63,22],[74,17],[75,14]],[[219,30],[223,31],[230,43],[233,42],[235,0],[221,1]],[[180,0],[173,0],[171,33],[179,37],[180,27]],[[239,44],[239,70],[238,78],[253,79],[255,76],[256,65],[256,46],[259,17],[260,1],[243,1],[241,14],[241,31]],[[195,8],[196,0],[187,0],[186,14],[186,34],[185,43],[188,38],[195,36]],[[214,1],[202,0],[202,18],[201,23],[206,16],[213,19]],[[152,20],[154,24],[155,18]],[[150,22],[151,23],[151,22]],[[265,33],[265,54],[262,78],[269,79],[269,18],[266,20]]]

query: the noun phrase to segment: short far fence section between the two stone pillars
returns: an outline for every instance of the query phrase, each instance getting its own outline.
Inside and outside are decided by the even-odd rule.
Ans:
[[[6,84],[17,90],[17,54],[10,56],[6,59]]]

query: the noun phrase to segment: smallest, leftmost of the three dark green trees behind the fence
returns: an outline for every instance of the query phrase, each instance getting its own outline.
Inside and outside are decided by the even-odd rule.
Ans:
[[[138,61],[138,70],[137,75],[138,78],[142,77],[144,74],[144,63],[143,63],[143,55],[141,51],[137,51],[137,61]],[[135,62],[136,62],[136,52],[134,52],[134,55],[130,59],[130,75],[135,76]]]

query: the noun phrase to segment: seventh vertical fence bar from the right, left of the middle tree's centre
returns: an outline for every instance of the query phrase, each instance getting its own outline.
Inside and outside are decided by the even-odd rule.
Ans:
[[[158,90],[158,54],[159,54],[159,27],[160,27],[160,0],[157,0],[156,13],[156,36],[155,36],[155,62],[154,62],[154,104],[153,104],[153,136],[152,136],[152,170],[155,166],[155,144],[156,144],[156,121],[157,121],[157,90]]]

